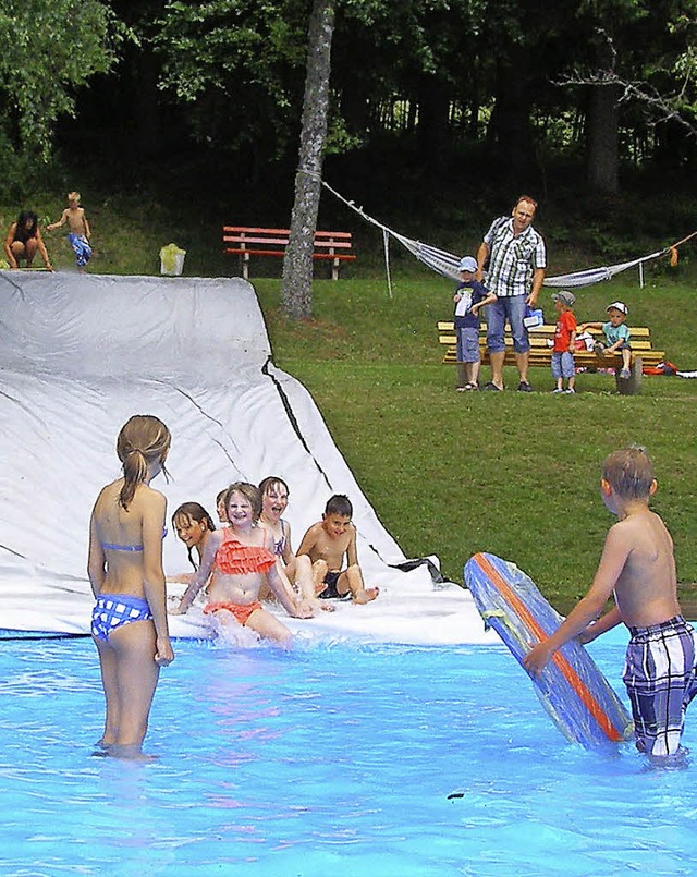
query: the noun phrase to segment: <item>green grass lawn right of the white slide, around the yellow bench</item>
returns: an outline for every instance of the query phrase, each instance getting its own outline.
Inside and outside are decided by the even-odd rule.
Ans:
[[[635,275],[577,293],[580,320],[601,319],[622,299],[629,325],[680,368],[697,368],[697,302],[687,278]],[[576,397],[557,397],[547,369],[531,369],[533,394],[454,392],[440,364],[436,321],[451,314],[452,284],[425,269],[387,294],[382,279],[318,280],[315,319],[278,309],[279,282],[256,279],[274,361],[310,390],[334,440],[386,527],[407,556],[436,553],[462,581],[475,551],[517,563],[560,611],[589,585],[612,519],[599,497],[603,458],[629,443],[650,452],[659,479],[653,508],[673,538],[683,602],[697,582],[697,381],[645,377],[620,397],[608,375],[579,375]],[[553,320],[551,291],[542,305]],[[488,369],[484,369],[485,373]],[[511,387],[516,373],[508,375]]]

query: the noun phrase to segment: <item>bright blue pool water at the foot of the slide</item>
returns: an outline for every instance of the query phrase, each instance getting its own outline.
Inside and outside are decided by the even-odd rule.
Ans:
[[[2,875],[697,873],[697,768],[567,744],[503,647],[179,642],[147,765],[90,756],[90,641],[2,640],[0,679]]]

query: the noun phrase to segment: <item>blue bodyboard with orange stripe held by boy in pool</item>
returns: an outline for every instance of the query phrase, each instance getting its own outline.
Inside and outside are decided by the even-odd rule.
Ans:
[[[524,572],[494,555],[470,558],[465,584],[485,625],[493,628],[518,663],[563,620]],[[576,640],[555,651],[541,674],[530,679],[542,706],[568,740],[591,747],[632,738],[626,709]]]

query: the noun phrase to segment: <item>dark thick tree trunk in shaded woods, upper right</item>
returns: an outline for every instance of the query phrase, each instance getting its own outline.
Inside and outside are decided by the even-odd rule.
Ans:
[[[619,85],[595,85],[587,118],[588,163],[586,180],[591,192],[615,195],[620,191]]]

